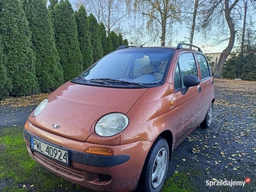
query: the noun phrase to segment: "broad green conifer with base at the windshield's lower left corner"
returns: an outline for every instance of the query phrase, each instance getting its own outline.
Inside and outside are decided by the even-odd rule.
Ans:
[[[77,38],[76,19],[68,0],[61,0],[53,10],[54,32],[63,79],[69,81],[83,71],[83,58]]]

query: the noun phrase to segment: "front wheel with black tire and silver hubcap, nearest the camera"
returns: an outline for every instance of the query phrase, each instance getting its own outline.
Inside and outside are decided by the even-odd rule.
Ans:
[[[169,163],[169,146],[164,138],[157,138],[148,152],[136,191],[160,191]]]

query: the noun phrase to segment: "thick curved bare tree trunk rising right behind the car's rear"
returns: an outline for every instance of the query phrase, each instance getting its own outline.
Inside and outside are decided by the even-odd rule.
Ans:
[[[233,22],[233,19],[230,16],[230,12],[232,11],[232,9],[234,8],[234,6],[237,4],[238,1],[239,0],[234,1],[234,3],[231,6],[229,6],[229,0],[225,0],[225,19],[227,20],[227,23],[228,23],[230,38],[229,38],[228,46],[226,47],[226,49],[224,49],[223,52],[221,52],[220,60],[218,61],[216,68],[214,70],[214,77],[218,79],[220,79],[221,77],[220,75],[221,75],[221,70],[224,65],[224,62],[234,47],[236,30],[235,30],[235,24]]]

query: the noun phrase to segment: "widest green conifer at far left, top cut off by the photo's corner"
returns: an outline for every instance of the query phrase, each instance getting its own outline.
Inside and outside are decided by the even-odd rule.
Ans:
[[[7,76],[12,84],[10,94],[36,93],[35,52],[31,48],[31,32],[22,4],[20,0],[1,0],[0,8],[3,54],[6,56]]]

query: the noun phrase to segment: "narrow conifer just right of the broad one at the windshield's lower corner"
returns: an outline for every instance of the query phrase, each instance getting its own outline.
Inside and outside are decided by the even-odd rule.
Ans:
[[[80,50],[83,56],[83,69],[86,69],[93,63],[93,48],[84,6],[80,6],[78,12],[76,12],[74,15],[76,17]]]

